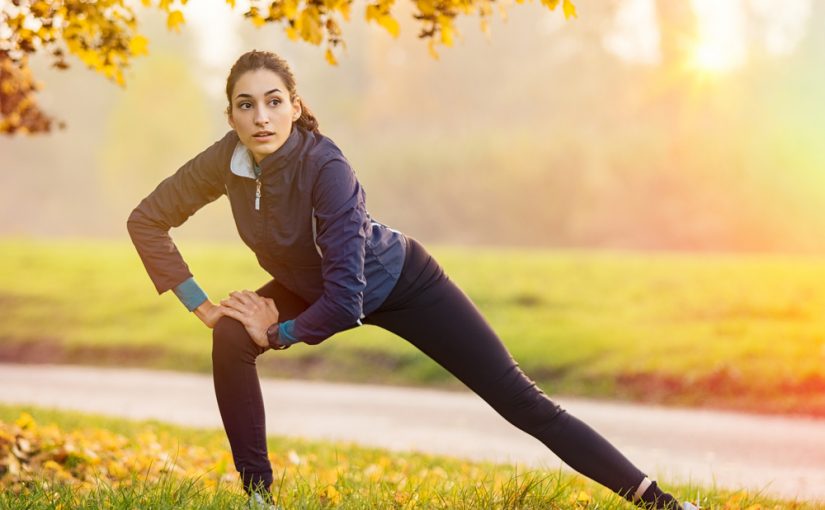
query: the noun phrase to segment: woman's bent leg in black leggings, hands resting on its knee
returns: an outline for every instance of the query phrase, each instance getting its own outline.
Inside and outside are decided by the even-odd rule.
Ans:
[[[272,298],[281,320],[295,318],[309,305],[274,280],[256,291]],[[268,348],[256,344],[243,324],[221,317],[212,330],[212,375],[221,420],[235,469],[247,493],[269,492],[272,465],[266,448],[266,419],[255,359]]]

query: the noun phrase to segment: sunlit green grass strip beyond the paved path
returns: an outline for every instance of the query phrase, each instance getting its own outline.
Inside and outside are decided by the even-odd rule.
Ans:
[[[213,302],[269,276],[177,242]],[[825,416],[825,260],[428,246],[550,395]],[[211,370],[211,332],[127,240],[0,240],[0,357]],[[465,389],[374,326],[270,351],[262,375]]]

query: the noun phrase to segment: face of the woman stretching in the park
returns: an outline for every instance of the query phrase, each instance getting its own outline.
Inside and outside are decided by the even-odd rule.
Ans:
[[[289,100],[278,73],[269,69],[247,71],[235,82],[229,125],[257,163],[284,144],[292,123],[301,116],[301,103]]]

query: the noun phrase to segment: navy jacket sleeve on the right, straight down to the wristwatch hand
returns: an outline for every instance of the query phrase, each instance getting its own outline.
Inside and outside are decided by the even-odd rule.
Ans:
[[[369,227],[365,192],[344,159],[321,168],[312,190],[318,220],[324,291],[295,318],[297,341],[319,344],[333,334],[360,324],[363,318],[364,256]]]

